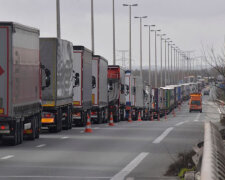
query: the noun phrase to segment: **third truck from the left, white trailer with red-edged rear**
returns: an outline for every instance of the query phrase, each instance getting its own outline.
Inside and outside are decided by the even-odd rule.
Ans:
[[[73,46],[73,53],[73,124],[84,126],[92,107],[92,51]]]

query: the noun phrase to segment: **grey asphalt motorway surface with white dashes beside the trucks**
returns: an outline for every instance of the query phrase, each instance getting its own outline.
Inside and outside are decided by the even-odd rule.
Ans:
[[[0,179],[174,179],[164,177],[180,152],[203,140],[204,122],[218,123],[217,106],[203,97],[203,112],[187,102],[167,120],[92,125],[42,134],[16,147],[0,145]]]

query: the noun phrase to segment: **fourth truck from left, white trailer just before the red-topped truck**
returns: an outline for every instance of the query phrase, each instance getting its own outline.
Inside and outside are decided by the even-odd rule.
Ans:
[[[108,121],[108,61],[101,56],[92,58],[92,109],[91,119],[94,123]]]

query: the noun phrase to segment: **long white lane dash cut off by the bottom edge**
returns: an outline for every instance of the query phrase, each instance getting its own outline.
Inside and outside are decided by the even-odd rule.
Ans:
[[[147,152],[140,153],[135,159],[133,159],[125,168],[123,168],[120,172],[118,172],[115,176],[111,178],[111,180],[124,180],[124,178],[134,170],[141,161],[148,155]]]

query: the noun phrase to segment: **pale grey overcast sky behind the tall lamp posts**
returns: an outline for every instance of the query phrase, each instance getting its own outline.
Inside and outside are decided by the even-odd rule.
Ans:
[[[61,0],[62,38],[91,49],[91,0]],[[115,0],[116,49],[128,50],[128,8],[132,16],[147,15],[143,24],[155,24],[184,51],[200,54],[202,44],[222,48],[225,0]],[[1,21],[16,21],[40,29],[42,37],[56,36],[55,0],[0,0]],[[94,0],[95,54],[112,64],[112,0]],[[132,18],[132,56],[139,66],[139,20]],[[154,36],[152,35],[152,40]],[[159,40],[158,40],[159,42]],[[152,49],[153,58],[154,49]],[[117,57],[120,58],[117,53]],[[128,56],[128,54],[127,54]],[[153,62],[154,64],[154,62]],[[143,28],[143,65],[148,65],[148,30]]]

